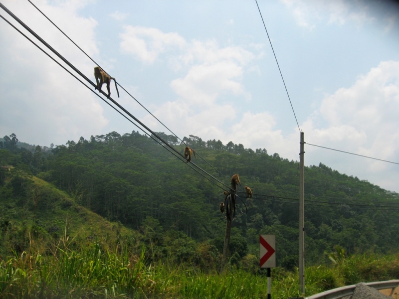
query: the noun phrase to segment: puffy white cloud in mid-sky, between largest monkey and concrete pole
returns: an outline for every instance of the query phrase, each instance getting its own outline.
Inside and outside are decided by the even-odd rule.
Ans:
[[[231,137],[223,128],[226,123],[240,121],[236,120],[234,101],[251,99],[241,80],[244,69],[256,57],[254,53],[237,46],[219,47],[215,40],[187,42],[176,33],[155,28],[127,27],[121,38],[122,48],[129,48],[129,53],[143,62],[168,57],[172,69],[183,73],[170,84],[177,98],[157,107],[155,116],[162,115],[169,126],[179,128],[178,135],[223,140]],[[222,100],[225,98],[231,100]],[[152,117],[143,121],[163,130]]]

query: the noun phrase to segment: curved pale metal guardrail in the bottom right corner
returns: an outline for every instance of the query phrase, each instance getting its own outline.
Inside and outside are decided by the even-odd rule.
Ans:
[[[372,287],[377,290],[387,290],[392,289],[391,295],[394,294],[395,289],[399,286],[399,280],[390,280],[385,282],[375,282],[375,283],[364,283],[368,287]],[[342,288],[337,288],[316,295],[306,297],[305,299],[339,299],[346,296],[352,296],[355,292],[356,285],[346,286]]]

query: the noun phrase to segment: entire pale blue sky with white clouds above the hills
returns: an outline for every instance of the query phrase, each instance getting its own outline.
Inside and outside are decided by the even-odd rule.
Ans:
[[[395,2],[258,0],[298,124],[255,0],[32,2],[181,139],[298,160],[302,130],[309,144],[399,162]],[[94,63],[27,0],[1,3],[94,80]],[[138,130],[3,19],[0,40],[1,137],[49,146]],[[119,92],[111,85],[134,116],[170,134]],[[398,164],[305,151],[306,165],[399,192]]]

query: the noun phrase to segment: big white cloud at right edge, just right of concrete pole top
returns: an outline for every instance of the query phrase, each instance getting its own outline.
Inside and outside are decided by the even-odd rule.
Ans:
[[[320,110],[301,128],[310,144],[399,162],[398,113],[399,61],[384,61],[351,87],[323,99]],[[314,126],[319,118],[327,121],[325,128]],[[398,170],[392,170],[390,163],[309,146],[306,152],[313,164],[336,165],[340,172],[367,176],[384,188],[397,189],[392,175],[398,175]]]

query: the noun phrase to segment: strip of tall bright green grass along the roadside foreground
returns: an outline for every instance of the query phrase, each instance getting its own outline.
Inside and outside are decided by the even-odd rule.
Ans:
[[[69,243],[68,243],[69,242]],[[30,248],[0,259],[0,298],[267,298],[267,278],[240,270],[204,273],[171,263],[147,264],[145,252],[103,243],[54,251]],[[305,269],[306,296],[360,281],[399,278],[399,255],[355,255],[333,267]],[[298,272],[272,269],[273,298],[302,297]]]

